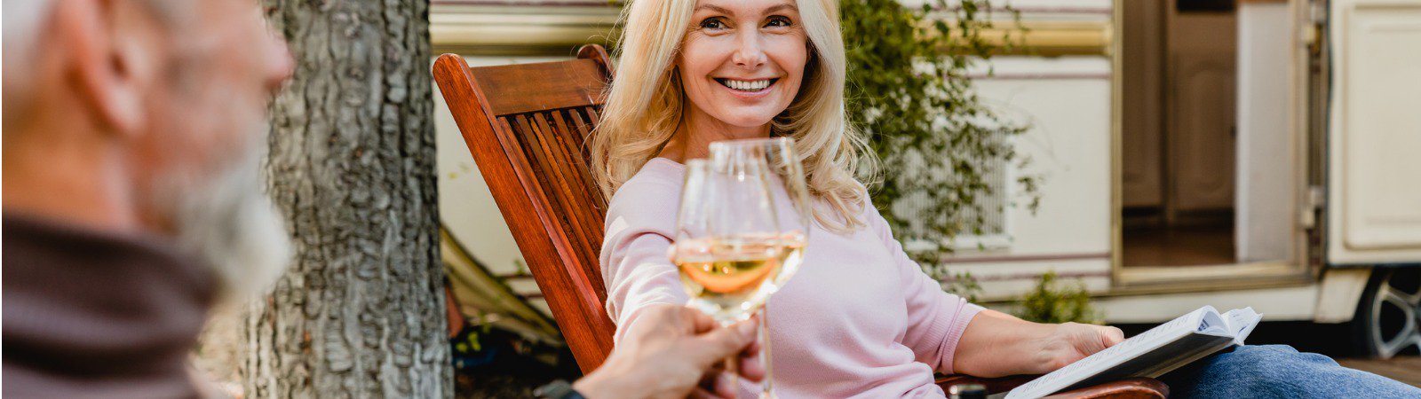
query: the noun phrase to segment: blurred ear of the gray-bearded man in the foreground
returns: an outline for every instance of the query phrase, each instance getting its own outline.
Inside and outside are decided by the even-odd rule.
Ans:
[[[128,16],[118,7],[128,1],[65,0],[55,1],[54,27],[57,44],[67,55],[65,77],[78,91],[80,102],[105,131],[138,135],[144,125],[142,88],[136,78],[136,57],[144,50],[125,45],[135,40],[125,31]]]

